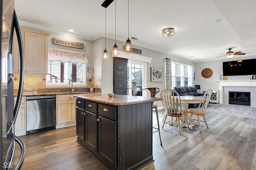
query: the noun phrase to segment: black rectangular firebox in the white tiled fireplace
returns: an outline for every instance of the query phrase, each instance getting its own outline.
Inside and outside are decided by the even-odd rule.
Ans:
[[[228,104],[251,106],[250,92],[228,92],[228,93],[229,93]]]

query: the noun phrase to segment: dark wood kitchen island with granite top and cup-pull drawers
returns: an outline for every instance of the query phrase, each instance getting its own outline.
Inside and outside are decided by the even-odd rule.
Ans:
[[[76,97],[77,142],[106,169],[153,162],[152,104],[162,98],[107,94]]]

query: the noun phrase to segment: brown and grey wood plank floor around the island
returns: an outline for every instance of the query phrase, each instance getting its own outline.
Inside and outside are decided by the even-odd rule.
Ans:
[[[163,110],[158,111],[160,127]],[[154,127],[157,126],[153,112]],[[256,170],[256,119],[207,113],[209,128],[201,124],[178,133],[178,127],[153,133],[153,159],[143,170]],[[45,131],[20,138],[26,155],[22,170],[103,170],[104,168],[76,142],[76,127]],[[16,144],[14,162],[19,157]]]

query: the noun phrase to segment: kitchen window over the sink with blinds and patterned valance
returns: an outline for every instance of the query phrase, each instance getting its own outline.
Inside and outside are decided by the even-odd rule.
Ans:
[[[48,49],[47,84],[86,84],[87,55]]]

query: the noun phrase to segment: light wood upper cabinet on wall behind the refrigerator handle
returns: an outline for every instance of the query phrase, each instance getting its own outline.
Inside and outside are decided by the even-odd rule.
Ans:
[[[49,33],[20,29],[24,50],[25,74],[47,75]],[[16,33],[13,41],[14,73],[20,73],[20,54]]]

